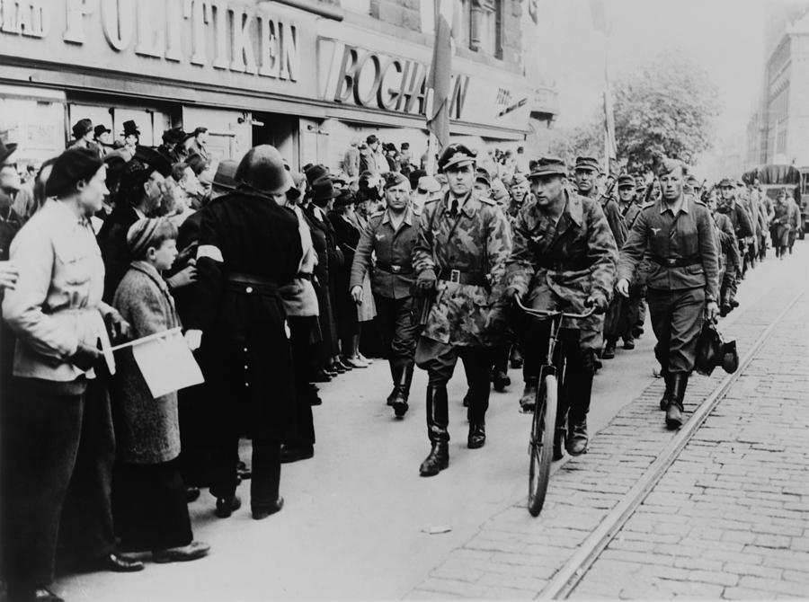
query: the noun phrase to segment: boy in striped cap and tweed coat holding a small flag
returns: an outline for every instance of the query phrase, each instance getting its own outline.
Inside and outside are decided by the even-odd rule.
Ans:
[[[180,327],[163,271],[177,257],[177,228],[165,217],[140,219],[127,234],[133,258],[112,305],[132,339]],[[126,552],[152,552],[155,562],[201,558],[193,540],[182,481],[177,393],[153,397],[130,348],[118,354],[112,379],[118,463],[113,489],[116,534]]]

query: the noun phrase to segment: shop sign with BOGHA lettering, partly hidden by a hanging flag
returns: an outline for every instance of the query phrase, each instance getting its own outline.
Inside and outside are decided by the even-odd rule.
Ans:
[[[427,114],[429,66],[349,44],[336,43],[332,52],[332,69],[327,77],[324,100],[383,111]],[[468,87],[468,75],[452,75],[450,119],[461,119]]]

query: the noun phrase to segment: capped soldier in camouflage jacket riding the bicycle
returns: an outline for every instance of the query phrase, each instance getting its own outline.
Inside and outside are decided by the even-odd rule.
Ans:
[[[579,330],[577,345],[566,348],[567,389],[556,419],[554,456],[587,451],[592,377],[601,347],[603,314],[615,281],[618,252],[607,219],[598,201],[582,197],[566,186],[567,168],[561,159],[540,159],[530,173],[534,202],[524,207],[514,223],[514,249],[506,268],[506,297],[523,297],[535,309],[595,313],[584,320],[563,323]],[[539,365],[546,341],[547,323],[529,320],[520,328],[524,359],[523,412],[532,412],[538,390]]]

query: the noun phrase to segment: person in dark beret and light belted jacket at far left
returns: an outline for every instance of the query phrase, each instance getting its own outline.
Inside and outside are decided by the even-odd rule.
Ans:
[[[4,412],[8,482],[2,489],[4,576],[12,599],[61,599],[47,590],[57,536],[90,566],[143,568],[114,553],[115,442],[105,375],[115,364],[104,323],[120,333],[128,325],[102,303],[104,267],[88,222],[107,192],[104,172],[90,150],[59,155],[46,187],[55,199],[12,244],[13,261],[27,267],[3,300],[4,319],[18,339],[13,403]]]

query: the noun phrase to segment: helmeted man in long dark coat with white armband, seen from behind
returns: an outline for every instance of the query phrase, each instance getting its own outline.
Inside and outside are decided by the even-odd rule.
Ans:
[[[298,274],[298,217],[278,200],[292,185],[280,153],[255,146],[236,171],[239,187],[203,209],[197,252],[199,298],[186,324],[191,349],[205,336],[202,368],[214,400],[210,492],[217,516],[236,496],[239,437],[253,438],[253,518],[283,506],[280,441],[294,432],[289,327],[279,288]],[[207,351],[206,351],[207,350]]]

